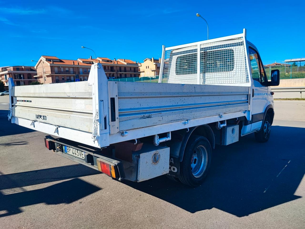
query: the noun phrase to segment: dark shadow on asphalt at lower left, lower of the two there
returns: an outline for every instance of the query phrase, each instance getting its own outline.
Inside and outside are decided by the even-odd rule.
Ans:
[[[71,192],[71,190],[77,191]],[[21,213],[20,207],[33,204],[72,203],[99,190],[101,188],[75,178],[32,191],[22,190],[23,192],[6,195],[0,192],[0,211],[5,211],[0,217]]]

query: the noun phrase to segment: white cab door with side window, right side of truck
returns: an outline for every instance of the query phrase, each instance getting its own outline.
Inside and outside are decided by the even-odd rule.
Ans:
[[[251,131],[253,131],[256,129],[260,129],[264,119],[265,108],[268,104],[268,81],[260,56],[257,50],[252,47],[249,47],[249,59],[252,75]]]

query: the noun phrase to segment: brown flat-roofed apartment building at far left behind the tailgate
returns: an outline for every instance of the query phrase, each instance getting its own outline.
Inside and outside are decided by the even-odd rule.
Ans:
[[[36,70],[32,66],[5,66],[0,67],[0,81],[4,83],[5,88],[8,88],[9,78],[12,78],[14,84],[29,85],[37,79],[34,77]]]

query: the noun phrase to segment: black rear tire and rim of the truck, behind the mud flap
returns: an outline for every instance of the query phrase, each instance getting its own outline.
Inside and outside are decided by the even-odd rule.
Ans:
[[[210,142],[203,136],[190,136],[180,163],[181,183],[193,187],[202,184],[210,168],[211,159]]]

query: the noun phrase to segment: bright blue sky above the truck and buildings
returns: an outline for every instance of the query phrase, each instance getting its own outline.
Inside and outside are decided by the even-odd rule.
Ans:
[[[72,1],[71,1],[72,2]],[[2,1],[0,66],[41,55],[142,61],[173,46],[242,33],[264,64],[305,57],[305,1]],[[256,3],[256,4],[255,4]]]

